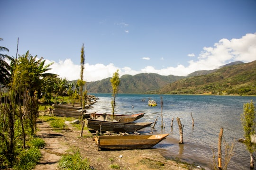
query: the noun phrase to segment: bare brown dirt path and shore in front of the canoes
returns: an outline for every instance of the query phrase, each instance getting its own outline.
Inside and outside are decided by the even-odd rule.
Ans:
[[[98,151],[91,133],[84,130],[83,137],[79,137],[80,131],[72,125],[67,125],[65,130],[56,132],[47,122],[39,120],[37,128],[39,129],[37,136],[46,141],[46,147],[41,149],[43,156],[35,170],[58,170],[61,155],[69,149],[79,149],[82,157],[90,161],[94,170],[112,170],[111,165],[118,165],[120,170],[187,170],[191,168],[190,165],[166,160],[154,149]]]

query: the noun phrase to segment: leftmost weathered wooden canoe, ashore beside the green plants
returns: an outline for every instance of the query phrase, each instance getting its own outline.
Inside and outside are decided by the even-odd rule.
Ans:
[[[54,109],[53,115],[55,116],[61,116],[61,117],[72,117],[72,118],[80,118],[81,117],[81,110],[63,110],[63,109]],[[88,117],[88,115],[93,113],[85,113],[86,109],[83,110],[84,117]]]

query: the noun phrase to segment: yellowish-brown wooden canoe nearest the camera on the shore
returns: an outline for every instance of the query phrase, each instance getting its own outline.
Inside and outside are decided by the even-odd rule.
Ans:
[[[168,135],[96,136],[95,141],[99,150],[149,149]]]

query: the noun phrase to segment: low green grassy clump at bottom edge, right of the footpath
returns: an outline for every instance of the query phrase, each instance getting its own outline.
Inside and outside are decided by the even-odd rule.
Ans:
[[[82,159],[79,151],[62,156],[59,167],[61,170],[91,170],[89,161]]]

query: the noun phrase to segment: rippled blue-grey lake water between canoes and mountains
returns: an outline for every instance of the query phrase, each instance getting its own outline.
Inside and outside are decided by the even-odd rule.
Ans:
[[[99,98],[91,110],[98,113],[111,113],[111,94],[93,93]],[[161,96],[163,97],[163,121],[161,128]],[[142,100],[145,100],[144,102]],[[148,99],[155,100],[158,105],[150,107]],[[195,163],[206,170],[212,166],[213,149],[218,154],[218,138],[220,128],[227,143],[235,144],[234,155],[229,162],[228,170],[249,170],[250,154],[246,146],[238,142],[243,138],[241,125],[243,104],[256,97],[251,96],[211,96],[211,95],[155,95],[155,94],[118,94],[116,98],[116,114],[134,114],[145,112],[145,116],[137,121],[152,121],[157,118],[154,128],[146,127],[141,133],[153,131],[153,134],[168,133],[169,136],[153,149],[159,150],[166,158],[179,158],[182,161]],[[132,108],[133,106],[133,108]],[[192,127],[191,112],[194,119]],[[171,121],[174,117],[173,128]],[[183,125],[184,144],[179,143],[179,127],[176,118]],[[223,144],[223,143],[222,143]],[[224,149],[224,146],[222,146]],[[216,157],[217,157],[216,154]],[[222,151],[224,155],[224,150]]]

